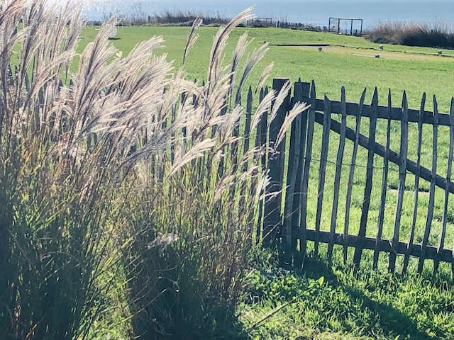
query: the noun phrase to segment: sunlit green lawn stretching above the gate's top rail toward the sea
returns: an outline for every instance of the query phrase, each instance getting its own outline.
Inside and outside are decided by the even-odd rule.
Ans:
[[[84,30],[84,40],[80,50],[94,38],[96,26]],[[199,30],[199,40],[196,42],[187,60],[185,70],[194,79],[206,79],[206,64],[209,60],[211,42],[217,28],[203,27]],[[249,47],[252,50],[264,41],[270,44],[333,44],[355,47],[378,48],[378,44],[363,38],[347,37],[328,33],[304,32],[299,30],[281,30],[272,28],[237,28],[231,36],[229,45],[232,50],[238,37],[248,32],[254,41]],[[189,28],[184,27],[120,27],[118,40],[112,42],[123,53],[128,53],[134,45],[152,37],[162,35],[165,47],[160,52],[166,53],[169,60],[175,60],[178,67],[187,40]],[[397,50],[407,52],[424,52],[436,54],[437,50],[427,47],[404,47],[384,45],[385,51]],[[379,52],[377,52],[379,53]],[[444,54],[454,55],[453,51],[445,50]],[[405,56],[407,55],[407,58]],[[409,106],[419,106],[421,94],[426,91],[429,96],[436,94],[442,111],[448,110],[453,86],[450,76],[454,70],[454,58],[450,57],[421,57],[414,60],[411,53],[402,53],[398,60],[386,57],[375,59],[374,56],[349,55],[345,52],[319,52],[301,47],[270,46],[270,51],[253,73],[251,79],[258,79],[263,66],[275,62],[272,77],[288,77],[292,81],[299,77],[303,81],[316,81],[319,94],[326,93],[329,98],[338,100],[341,96],[341,86],[345,86],[348,101],[358,101],[362,89],[370,89],[368,98],[372,97],[372,89],[377,86],[380,102],[386,103],[387,90],[394,93],[394,104],[399,104],[402,91],[406,90]],[[254,81],[252,81],[254,82]],[[428,101],[428,105],[431,101]]]

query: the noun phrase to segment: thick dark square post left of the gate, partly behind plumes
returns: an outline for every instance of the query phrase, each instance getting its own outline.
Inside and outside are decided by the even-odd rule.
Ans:
[[[275,78],[272,81],[272,89],[279,93],[288,81],[289,79],[287,78]],[[270,121],[269,147],[270,149],[274,149],[275,152],[270,153],[268,156],[267,169],[269,171],[270,183],[267,186],[267,194],[277,193],[277,195],[268,197],[265,200],[265,217],[263,219],[263,244],[265,246],[270,246],[275,242],[277,229],[280,229],[282,225],[281,191],[284,176],[285,138],[279,145],[275,145],[275,143],[277,141],[277,134],[282,128],[282,123],[284,123],[289,109],[289,101],[290,91],[282,102],[282,105],[277,108],[275,118]],[[275,111],[275,102],[273,102],[272,106],[272,111]]]

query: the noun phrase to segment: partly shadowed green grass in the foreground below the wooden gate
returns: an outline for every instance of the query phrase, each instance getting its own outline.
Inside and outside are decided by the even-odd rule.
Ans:
[[[402,277],[367,268],[354,275],[344,266],[310,260],[304,273],[276,266],[254,269],[246,287],[248,294],[240,307],[246,328],[297,297],[253,329],[251,339],[454,336],[454,288],[443,278]]]

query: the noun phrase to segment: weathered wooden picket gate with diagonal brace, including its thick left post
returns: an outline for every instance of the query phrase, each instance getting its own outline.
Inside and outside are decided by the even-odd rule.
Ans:
[[[274,79],[273,89],[279,91],[286,82]],[[454,100],[450,113],[443,114],[438,113],[435,96],[433,110],[426,111],[426,94],[421,107],[413,110],[405,92],[402,105],[393,107],[391,91],[387,105],[380,106],[377,89],[370,103],[365,103],[366,90],[358,103],[348,103],[344,88],[341,101],[317,98],[314,81],[297,81],[293,89],[277,119],[269,127],[266,120],[261,123],[262,141],[279,151],[264,159],[271,178],[267,191],[281,192],[266,200],[260,211],[262,242],[277,242],[287,262],[304,261],[311,242],[316,256],[325,244],[329,260],[333,249],[342,249],[343,260],[348,262],[353,255],[355,266],[360,265],[363,250],[370,249],[374,267],[380,252],[389,254],[390,272],[398,263],[405,273],[411,256],[416,256],[419,273],[430,259],[434,273],[447,262],[454,274],[454,252],[445,249],[447,234],[454,236],[449,200],[454,193]],[[282,122],[297,102],[311,107],[293,121],[287,140],[276,146]],[[428,126],[431,131],[426,131]],[[399,152],[393,144],[395,149],[399,145]],[[427,159],[431,165],[425,167]]]

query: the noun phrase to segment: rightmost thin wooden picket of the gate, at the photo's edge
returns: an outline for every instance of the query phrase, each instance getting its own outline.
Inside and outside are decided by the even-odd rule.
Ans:
[[[433,261],[433,274],[438,271],[440,264],[440,255],[445,246],[446,225],[448,223],[448,202],[449,202],[449,182],[453,172],[453,149],[454,149],[454,98],[451,99],[450,108],[450,127],[449,127],[449,154],[448,154],[448,169],[446,171],[446,186],[445,186],[445,204],[443,206],[443,220],[441,221],[440,238],[438,239],[437,254],[438,256]]]

